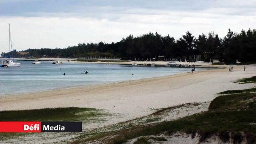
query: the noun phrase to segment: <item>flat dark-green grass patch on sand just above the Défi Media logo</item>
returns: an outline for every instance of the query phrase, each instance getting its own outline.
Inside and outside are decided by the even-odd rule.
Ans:
[[[0,121],[76,121],[102,115],[97,109],[65,107],[0,111]]]

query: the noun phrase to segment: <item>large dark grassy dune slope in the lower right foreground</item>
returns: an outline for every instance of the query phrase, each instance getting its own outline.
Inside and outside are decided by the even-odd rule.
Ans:
[[[251,79],[247,79],[250,81]],[[245,82],[248,82],[244,80]],[[246,90],[224,91],[216,97],[209,106],[207,112],[197,113],[192,116],[177,120],[136,126],[117,132],[109,132],[101,137],[113,136],[106,143],[122,144],[129,139],[138,138],[136,143],[150,144],[150,135],[161,133],[172,134],[175,132],[186,132],[200,134],[200,142],[211,137],[213,134],[219,136],[223,142],[232,139],[234,143],[241,143],[247,139],[249,144],[256,143],[256,88]],[[160,110],[161,111],[161,110]],[[245,134],[242,136],[242,132]],[[142,137],[141,137],[142,136]],[[143,137],[144,136],[144,137]],[[75,141],[80,143],[90,139]],[[155,139],[154,139],[155,140]],[[164,140],[164,139],[162,139]]]

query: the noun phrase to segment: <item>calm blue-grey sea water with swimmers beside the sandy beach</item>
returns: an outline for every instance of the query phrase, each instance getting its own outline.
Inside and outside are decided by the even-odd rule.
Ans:
[[[106,64],[80,63],[52,64],[47,61],[43,61],[41,64],[32,64],[32,61],[19,62],[21,67],[0,67],[0,95],[139,80],[191,70],[167,67],[133,67],[119,64],[108,66]],[[81,74],[84,71],[89,73]],[[66,75],[63,75],[64,73]]]

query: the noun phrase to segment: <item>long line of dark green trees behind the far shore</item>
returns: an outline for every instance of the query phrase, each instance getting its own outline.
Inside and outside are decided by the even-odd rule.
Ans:
[[[82,43],[64,49],[41,48],[27,49],[27,56],[61,57],[61,58],[121,58],[134,60],[152,59],[159,55],[165,59],[181,59],[194,61],[194,55],[202,55],[202,60],[219,59],[227,63],[235,63],[239,59],[243,63],[256,62],[256,30],[242,30],[240,33],[230,29],[225,37],[209,32],[197,38],[187,32],[178,40],[169,35],[161,36],[157,32],[139,37],[129,35],[117,43]],[[8,56],[9,53],[3,53]],[[15,57],[19,57],[14,51]]]

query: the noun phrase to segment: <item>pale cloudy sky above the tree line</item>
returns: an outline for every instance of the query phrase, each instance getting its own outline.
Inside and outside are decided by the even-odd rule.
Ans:
[[[129,34],[224,37],[256,27],[256,0],[0,0],[0,52],[118,42]]]

